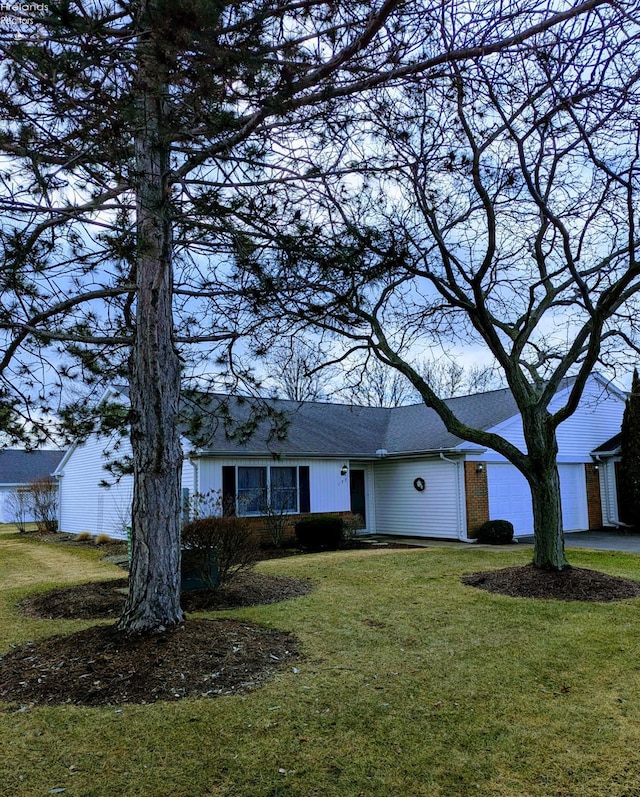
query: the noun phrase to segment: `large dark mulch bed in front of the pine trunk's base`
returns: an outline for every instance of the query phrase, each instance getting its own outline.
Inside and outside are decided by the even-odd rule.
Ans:
[[[232,620],[188,620],[152,636],[114,626],[25,645],[0,659],[0,698],[82,706],[216,697],[259,686],[297,655],[294,637]]]

